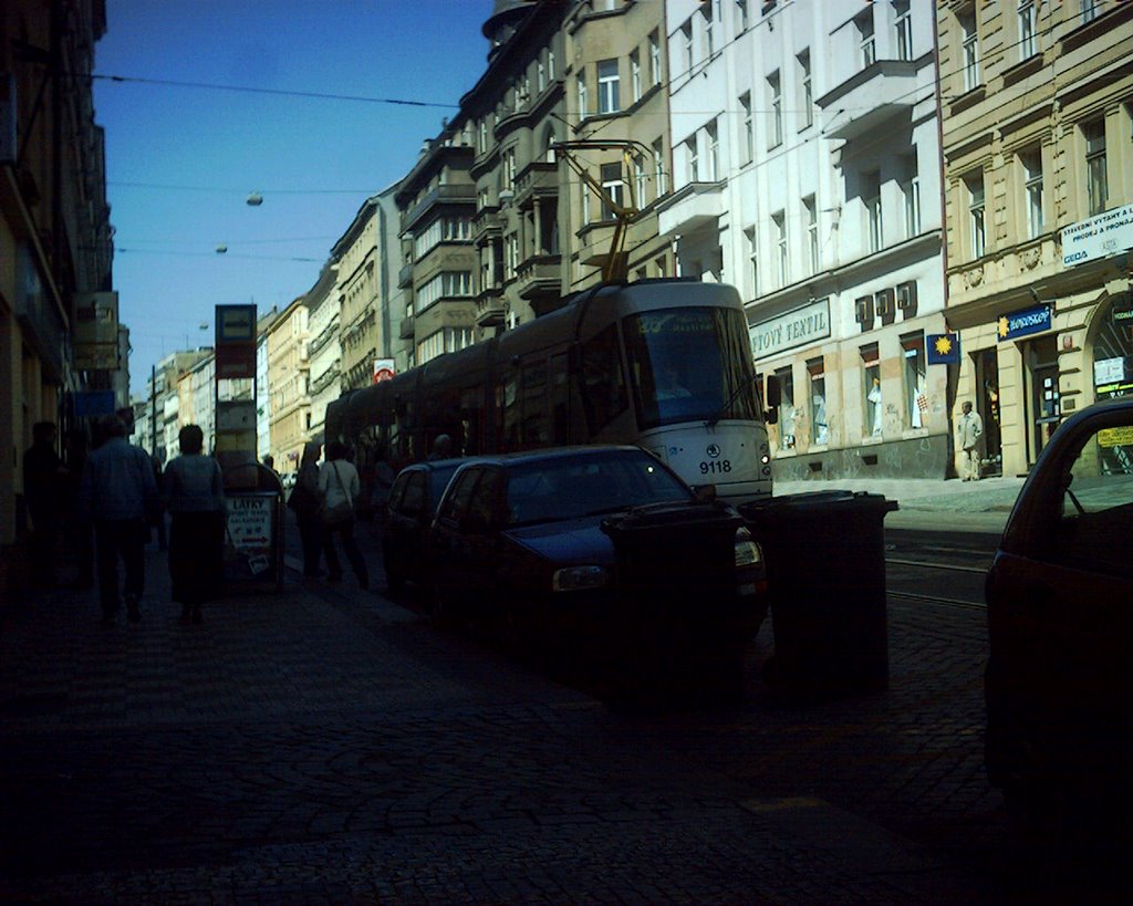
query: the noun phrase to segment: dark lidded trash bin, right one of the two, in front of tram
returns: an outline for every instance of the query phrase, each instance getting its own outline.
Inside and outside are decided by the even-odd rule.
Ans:
[[[884,522],[896,508],[884,495],[851,490],[740,506],[767,565],[769,685],[812,700],[888,687]]]

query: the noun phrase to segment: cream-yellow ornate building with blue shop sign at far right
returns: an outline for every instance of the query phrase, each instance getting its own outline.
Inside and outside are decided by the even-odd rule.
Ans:
[[[986,468],[1133,392],[1133,5],[937,0],[947,318]]]

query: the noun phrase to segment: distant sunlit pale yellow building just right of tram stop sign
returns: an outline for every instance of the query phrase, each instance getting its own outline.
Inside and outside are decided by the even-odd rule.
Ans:
[[[307,357],[307,306],[304,297],[280,311],[267,331],[267,385],[271,396],[270,452],[279,472],[299,469],[310,439],[310,362]]]

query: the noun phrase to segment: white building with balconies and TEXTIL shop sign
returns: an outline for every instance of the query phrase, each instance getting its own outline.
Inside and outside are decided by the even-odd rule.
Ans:
[[[931,0],[667,3],[681,274],[739,288],[776,479],[943,478]]]

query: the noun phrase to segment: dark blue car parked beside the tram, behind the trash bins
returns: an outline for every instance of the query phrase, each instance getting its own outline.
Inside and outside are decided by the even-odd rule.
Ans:
[[[483,456],[449,482],[427,540],[438,616],[525,647],[599,642],[740,678],[766,615],[763,554],[732,508],[640,447]]]

